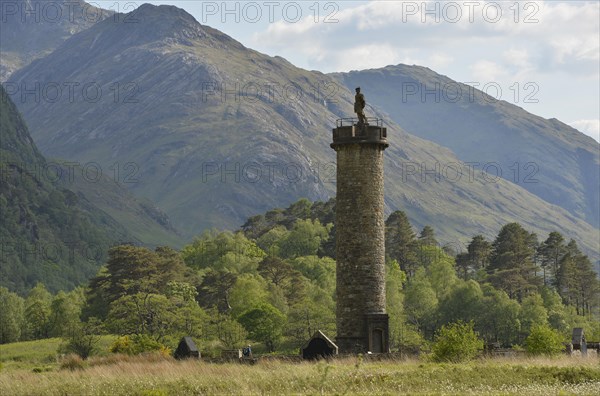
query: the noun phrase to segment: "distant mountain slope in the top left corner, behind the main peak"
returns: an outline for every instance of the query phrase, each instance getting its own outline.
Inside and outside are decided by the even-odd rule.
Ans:
[[[114,15],[82,0],[12,0],[3,1],[1,7],[0,81],[73,34]]]

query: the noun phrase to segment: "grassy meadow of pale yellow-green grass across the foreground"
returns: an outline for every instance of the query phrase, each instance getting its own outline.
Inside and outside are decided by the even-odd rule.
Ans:
[[[108,338],[103,344],[108,344]],[[600,360],[493,358],[320,362],[259,359],[255,365],[176,361],[159,354],[104,354],[82,362],[56,355],[60,340],[0,346],[7,395],[598,395]]]

